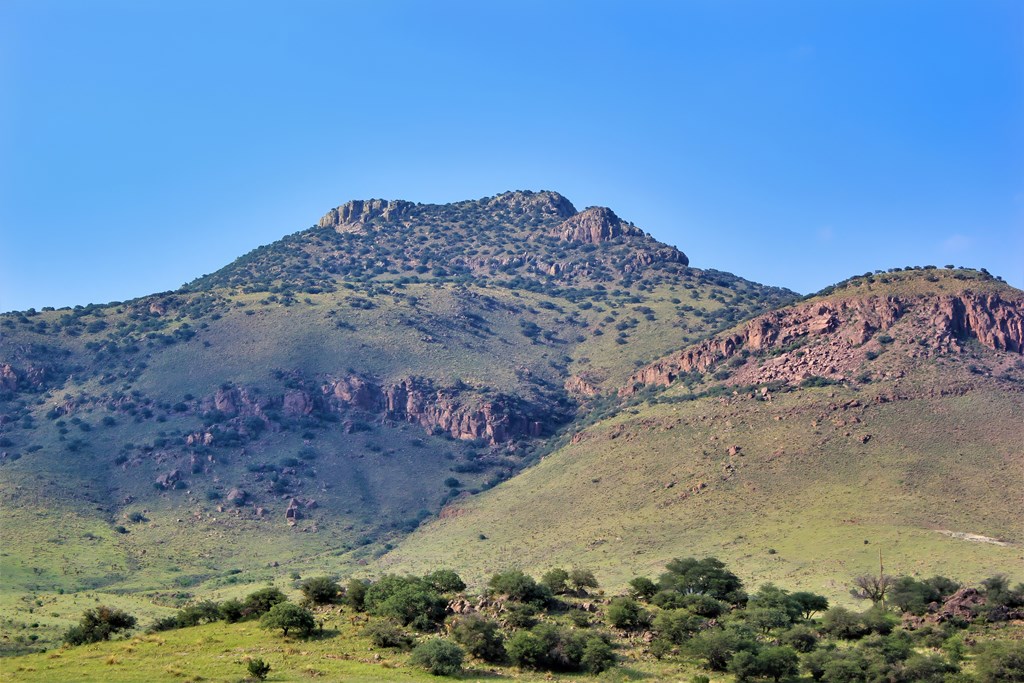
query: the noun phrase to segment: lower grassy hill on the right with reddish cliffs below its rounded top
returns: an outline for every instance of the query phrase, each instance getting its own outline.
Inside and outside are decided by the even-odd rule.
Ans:
[[[842,598],[877,570],[1024,566],[1024,293],[984,272],[853,278],[639,368],[538,466],[381,560],[617,586],[715,555]]]

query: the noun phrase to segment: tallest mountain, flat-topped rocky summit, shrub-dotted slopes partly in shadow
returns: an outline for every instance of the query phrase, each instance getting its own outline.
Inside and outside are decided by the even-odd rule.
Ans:
[[[515,191],[349,202],[174,292],[2,315],[4,633],[91,591],[159,613],[351,571],[638,368],[796,298]]]

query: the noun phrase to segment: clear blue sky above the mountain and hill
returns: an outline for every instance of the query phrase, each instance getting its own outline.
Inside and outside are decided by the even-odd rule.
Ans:
[[[804,293],[1024,287],[1024,2],[0,2],[0,310],[515,188]]]

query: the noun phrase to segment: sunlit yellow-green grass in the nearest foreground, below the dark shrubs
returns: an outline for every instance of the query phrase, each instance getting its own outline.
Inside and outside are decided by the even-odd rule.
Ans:
[[[260,658],[270,665],[268,681],[437,681],[409,665],[409,653],[375,648],[360,634],[365,615],[340,608],[321,610],[323,634],[309,639],[284,638],[257,623],[216,623],[137,635],[0,660],[2,681],[211,681],[236,682],[247,676],[247,664]],[[468,661],[459,680],[689,680],[699,669],[689,663],[644,657],[631,644],[621,647],[623,666],[599,679],[584,674],[524,672]],[[724,678],[713,680],[725,680]]]

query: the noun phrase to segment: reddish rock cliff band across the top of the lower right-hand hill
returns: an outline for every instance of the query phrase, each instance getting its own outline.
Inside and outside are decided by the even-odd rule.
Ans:
[[[669,386],[683,373],[707,372],[742,350],[765,353],[788,345],[800,345],[799,357],[769,360],[758,373],[744,373],[744,379],[844,379],[869,350],[861,347],[904,317],[912,318],[908,325],[913,325],[934,352],[959,351],[966,339],[976,339],[993,350],[1024,352],[1024,301],[1004,300],[997,294],[820,301],[759,315],[738,332],[713,337],[652,362],[634,373],[618,393],[627,396],[643,386]]]

